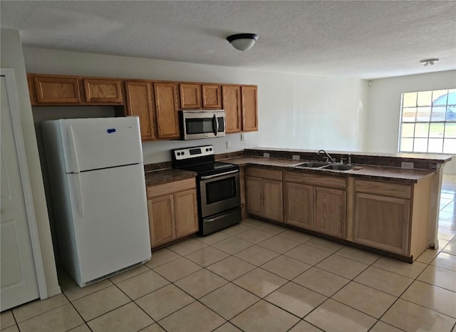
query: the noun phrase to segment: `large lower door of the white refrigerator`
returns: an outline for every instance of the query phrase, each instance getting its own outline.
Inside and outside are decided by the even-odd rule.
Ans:
[[[81,283],[150,259],[142,164],[66,176]]]

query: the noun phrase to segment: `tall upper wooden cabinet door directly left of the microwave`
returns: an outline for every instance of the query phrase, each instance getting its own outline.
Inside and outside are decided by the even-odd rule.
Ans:
[[[179,138],[177,83],[154,83],[157,137]]]

